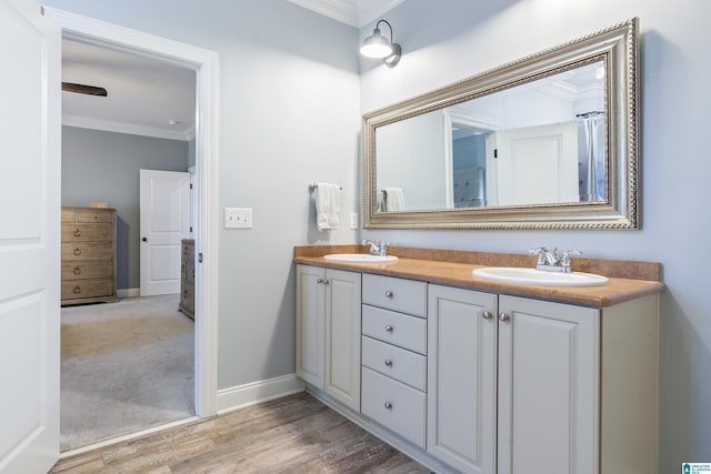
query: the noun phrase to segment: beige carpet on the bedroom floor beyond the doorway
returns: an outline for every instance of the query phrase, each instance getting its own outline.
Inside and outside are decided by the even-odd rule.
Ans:
[[[62,307],[62,452],[194,414],[194,327],[178,299]]]

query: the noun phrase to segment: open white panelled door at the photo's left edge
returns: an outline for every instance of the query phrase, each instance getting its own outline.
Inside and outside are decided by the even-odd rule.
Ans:
[[[0,471],[59,457],[61,31],[0,0]]]

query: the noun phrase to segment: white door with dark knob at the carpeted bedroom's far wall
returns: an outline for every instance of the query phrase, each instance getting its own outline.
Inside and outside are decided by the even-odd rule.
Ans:
[[[180,293],[180,241],[190,236],[190,173],[141,170],[141,296]]]

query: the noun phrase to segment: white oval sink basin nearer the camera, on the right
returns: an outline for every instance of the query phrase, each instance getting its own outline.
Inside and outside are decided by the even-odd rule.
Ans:
[[[608,284],[608,278],[592,273],[557,273],[518,266],[488,266],[477,269],[472,274],[483,280],[503,283],[531,284],[542,286],[599,286]]]

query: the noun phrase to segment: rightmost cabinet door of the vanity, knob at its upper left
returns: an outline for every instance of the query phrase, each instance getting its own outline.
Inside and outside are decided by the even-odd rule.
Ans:
[[[499,299],[499,473],[598,472],[599,311]]]

